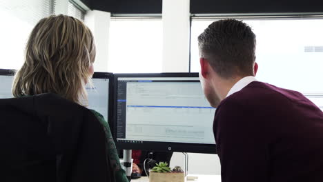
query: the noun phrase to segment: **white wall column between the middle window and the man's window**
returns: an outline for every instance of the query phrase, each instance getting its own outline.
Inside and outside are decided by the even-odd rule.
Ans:
[[[163,0],[163,72],[188,72],[190,0]]]

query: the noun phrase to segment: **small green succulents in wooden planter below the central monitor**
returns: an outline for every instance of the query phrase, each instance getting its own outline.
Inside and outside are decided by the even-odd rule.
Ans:
[[[170,170],[168,163],[156,163],[156,166],[149,172],[149,182],[184,182],[185,174],[181,167],[175,166]]]

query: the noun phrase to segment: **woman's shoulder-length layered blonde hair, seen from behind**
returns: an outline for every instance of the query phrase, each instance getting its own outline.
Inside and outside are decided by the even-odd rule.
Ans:
[[[78,19],[52,15],[41,19],[26,45],[26,60],[12,86],[14,97],[55,93],[86,105],[85,84],[95,61],[95,41]],[[84,103],[85,102],[85,103]]]

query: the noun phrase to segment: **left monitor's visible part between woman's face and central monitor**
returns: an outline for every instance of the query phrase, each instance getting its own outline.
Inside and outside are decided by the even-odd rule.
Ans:
[[[89,85],[86,86],[88,91],[88,108],[99,112],[106,121],[112,124],[112,119],[109,118],[112,117],[112,110],[109,113],[109,105],[113,105],[111,96],[113,92],[113,74],[109,72],[95,72],[92,77],[92,83],[93,88]]]

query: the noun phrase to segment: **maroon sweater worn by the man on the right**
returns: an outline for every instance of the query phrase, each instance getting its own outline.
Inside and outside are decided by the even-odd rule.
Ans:
[[[323,181],[323,113],[299,92],[253,81],[219,104],[213,132],[223,182]]]

